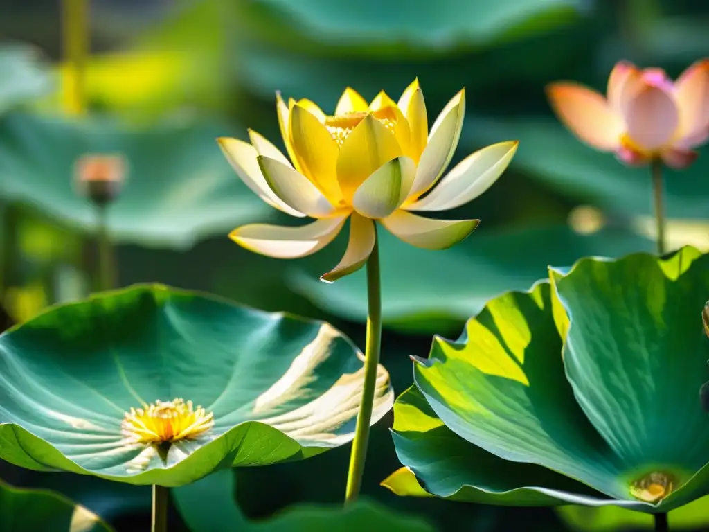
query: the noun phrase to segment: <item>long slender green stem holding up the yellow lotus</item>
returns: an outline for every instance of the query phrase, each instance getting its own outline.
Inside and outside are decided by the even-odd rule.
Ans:
[[[367,260],[367,345],[364,350],[364,387],[362,404],[357,414],[357,426],[354,430],[350,470],[347,474],[345,504],[357,500],[362,486],[364,460],[367,458],[369,425],[372,423],[374,392],[376,391],[376,370],[379,366],[379,348],[381,346],[381,279],[379,275],[379,238],[374,229],[374,249]]]

